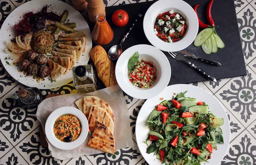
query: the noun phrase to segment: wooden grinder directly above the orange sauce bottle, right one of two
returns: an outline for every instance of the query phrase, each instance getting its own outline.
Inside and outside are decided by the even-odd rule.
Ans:
[[[88,17],[90,21],[96,22],[96,17],[98,14],[104,14],[106,15],[105,12],[105,4],[103,3],[103,0],[86,0],[88,5],[87,5],[87,12],[88,12]]]

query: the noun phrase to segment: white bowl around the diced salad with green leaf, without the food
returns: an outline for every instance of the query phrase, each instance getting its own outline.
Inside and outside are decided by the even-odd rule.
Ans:
[[[140,58],[152,61],[157,69],[154,84],[149,88],[139,88],[131,84],[128,78],[128,61],[135,52],[139,52]],[[147,99],[157,96],[168,85],[171,78],[171,67],[166,55],[162,51],[150,45],[135,45],[126,49],[116,63],[116,81],[121,89],[131,97]]]

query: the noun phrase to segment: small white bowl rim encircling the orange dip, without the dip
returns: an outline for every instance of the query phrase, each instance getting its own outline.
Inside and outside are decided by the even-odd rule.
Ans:
[[[73,142],[62,142],[61,140],[57,139],[53,133],[53,125],[60,117],[61,115],[64,114],[72,114],[76,116],[81,124],[81,132],[80,135],[76,140]],[[56,148],[59,148],[61,150],[71,150],[73,148],[77,148],[79,145],[81,145],[84,140],[87,137],[89,130],[89,125],[86,117],[84,116],[84,113],[82,113],[80,110],[74,108],[74,107],[61,107],[58,108],[57,110],[53,111],[49,117],[47,118],[46,124],[45,124],[45,134],[48,139],[48,141],[55,146]]]

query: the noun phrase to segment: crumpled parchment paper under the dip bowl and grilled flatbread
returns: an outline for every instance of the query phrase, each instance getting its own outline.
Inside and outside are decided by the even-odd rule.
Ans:
[[[123,96],[122,90],[118,85],[105,88],[103,90],[97,90],[92,93],[85,94],[86,96],[97,96],[103,101],[107,102],[114,113],[114,137],[115,137],[115,150],[133,146],[133,140],[131,138],[130,122],[128,108]],[[67,94],[61,96],[55,96],[47,98],[38,105],[36,116],[41,122],[43,128],[47,121],[48,116],[56,109],[60,107],[76,107],[74,101],[85,96],[80,94]],[[77,107],[76,107],[77,108]],[[46,138],[47,139],[47,138]],[[91,148],[87,146],[90,140],[90,135],[87,136],[83,144],[72,150],[60,150],[55,148],[48,142],[49,150],[52,151],[52,156],[57,159],[70,159],[81,155],[91,155],[96,153],[103,153],[104,151]]]

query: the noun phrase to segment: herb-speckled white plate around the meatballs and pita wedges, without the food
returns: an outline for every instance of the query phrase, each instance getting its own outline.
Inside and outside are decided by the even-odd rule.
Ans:
[[[12,65],[12,61],[13,59],[17,58],[17,55],[8,54],[5,52],[4,49],[7,48],[6,42],[9,42],[12,38],[15,37],[15,29],[13,26],[16,23],[18,23],[21,19],[23,19],[23,15],[28,12],[40,12],[42,8],[46,5],[48,5],[48,12],[56,12],[58,15],[62,14],[64,10],[67,10],[69,12],[67,20],[69,20],[70,23],[76,23],[76,30],[86,30],[86,52],[83,52],[83,55],[81,55],[81,58],[76,64],[76,66],[85,65],[88,63],[90,58],[89,52],[92,48],[92,38],[86,20],[84,20],[84,17],[69,4],[64,3],[60,0],[32,0],[17,7],[14,11],[11,12],[11,14],[9,14],[9,16],[6,18],[0,29],[0,60],[3,66],[5,67],[6,71],[16,81],[26,86],[37,87],[39,89],[52,89],[56,87],[61,87],[69,83],[73,80],[71,70],[67,74],[61,75],[61,77],[57,78],[56,82],[51,82],[49,76],[45,78],[44,81],[40,81],[38,83],[35,79],[33,79],[32,75],[26,76],[23,74],[23,72],[18,72],[18,67]],[[9,62],[9,64],[11,65],[8,65],[6,62]]]

